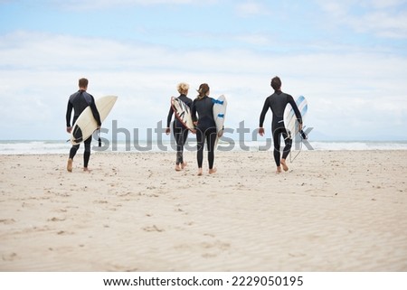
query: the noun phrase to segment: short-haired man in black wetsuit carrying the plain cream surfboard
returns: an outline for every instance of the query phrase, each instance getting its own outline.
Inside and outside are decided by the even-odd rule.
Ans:
[[[75,124],[76,119],[80,117],[80,113],[90,106],[92,111],[93,117],[95,118],[96,122],[98,123],[98,129],[101,126],[100,116],[98,112],[98,108],[95,105],[95,99],[92,95],[90,95],[86,90],[88,89],[89,81],[87,79],[80,79],[79,80],[79,90],[72,94],[68,100],[68,108],[66,110],[66,131],[71,134],[71,112],[73,108],[73,121],[72,124]],[[92,136],[86,139],[83,143],[85,145],[85,152],[83,153],[83,171],[89,172],[88,163],[90,160],[90,143],[92,141]],[[78,151],[80,144],[72,145],[70,150],[70,156],[68,159],[67,170],[71,173],[72,172],[72,163],[73,157],[75,157],[76,152]]]

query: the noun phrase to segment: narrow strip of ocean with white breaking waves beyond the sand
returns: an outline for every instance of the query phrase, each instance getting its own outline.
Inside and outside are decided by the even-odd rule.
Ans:
[[[92,142],[94,152],[175,152],[175,144],[170,140],[130,142],[117,141],[105,142],[98,146],[97,141]],[[0,140],[0,154],[68,154],[71,144],[64,140]],[[185,151],[194,151],[196,142],[188,139]],[[219,151],[269,151],[272,150],[270,139],[266,141],[244,141],[239,142],[228,139],[227,142],[219,142]],[[296,142],[295,150],[407,150],[407,141],[310,141],[305,143]],[[80,150],[81,151],[81,150]]]

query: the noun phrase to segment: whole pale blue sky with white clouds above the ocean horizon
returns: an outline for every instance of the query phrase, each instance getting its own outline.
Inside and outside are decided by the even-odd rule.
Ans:
[[[254,132],[274,76],[308,99],[311,140],[407,140],[407,0],[0,0],[0,140],[68,139],[82,77],[118,96],[108,139],[166,126],[179,82]]]

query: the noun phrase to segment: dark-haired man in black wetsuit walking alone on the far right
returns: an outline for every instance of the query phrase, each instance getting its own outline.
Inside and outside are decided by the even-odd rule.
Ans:
[[[289,155],[292,145],[292,136],[290,136],[290,132],[284,126],[284,109],[288,104],[290,104],[294,109],[294,113],[296,114],[299,123],[299,130],[302,129],[302,117],[294,98],[281,91],[281,80],[279,77],[273,78],[270,84],[274,89],[274,93],[270,95],[270,97],[266,98],[266,101],[264,102],[264,106],[260,114],[259,134],[260,136],[264,135],[264,118],[266,117],[266,113],[270,108],[273,114],[271,129],[273,132],[274,160],[277,164],[277,173],[281,173],[281,165],[284,171],[289,170],[289,166],[287,166],[286,163],[286,158]],[[281,136],[284,138],[285,147],[280,159],[279,150]]]

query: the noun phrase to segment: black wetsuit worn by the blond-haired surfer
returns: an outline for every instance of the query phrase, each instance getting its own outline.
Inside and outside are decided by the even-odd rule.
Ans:
[[[192,99],[186,97],[185,95],[181,94],[179,97],[185,105],[191,108],[192,106]],[[173,118],[174,110],[170,108],[168,112],[168,117],[166,118],[166,127],[169,128],[171,124],[171,119]],[[188,129],[175,117],[175,121],[173,123],[173,132],[175,136],[176,142],[176,164],[183,164],[184,163],[184,145],[186,142],[186,138],[188,137]]]

